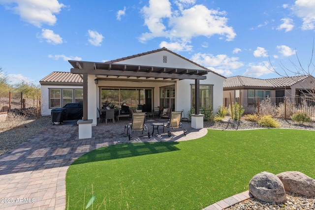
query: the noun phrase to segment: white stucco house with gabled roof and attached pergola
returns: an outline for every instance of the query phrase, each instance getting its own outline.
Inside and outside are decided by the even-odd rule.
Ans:
[[[42,103],[42,115],[66,103],[81,102],[85,91],[83,106],[92,125],[97,123],[97,108],[104,105],[126,105],[146,112],[170,107],[184,110],[187,117],[195,107],[198,86],[200,108],[222,105],[226,78],[166,48],[107,62],[69,62],[71,73],[52,72],[40,81],[42,101],[47,102]]]

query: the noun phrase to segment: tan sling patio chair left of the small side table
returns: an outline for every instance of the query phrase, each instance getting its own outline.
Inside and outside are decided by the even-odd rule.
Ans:
[[[145,112],[140,112],[140,113],[133,113],[132,114],[132,120],[129,124],[125,126],[127,128],[127,135],[129,138],[129,141],[132,137],[132,133],[134,132],[148,132],[148,137],[151,138],[151,134],[148,130],[147,125],[144,124],[146,113]]]

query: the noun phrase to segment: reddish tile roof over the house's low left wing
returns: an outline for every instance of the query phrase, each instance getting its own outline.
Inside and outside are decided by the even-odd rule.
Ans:
[[[44,77],[39,83],[83,83],[83,79],[79,74],[70,72],[53,71],[48,76]]]

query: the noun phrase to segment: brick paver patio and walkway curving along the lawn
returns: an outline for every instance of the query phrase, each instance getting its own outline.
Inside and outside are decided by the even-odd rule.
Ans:
[[[65,175],[69,165],[84,153],[97,148],[126,143],[127,120],[99,123],[91,139],[78,139],[76,124],[52,125],[18,147],[0,156],[0,210],[64,210]],[[151,123],[146,122],[150,131]],[[159,129],[161,136],[139,137],[131,142],[187,141],[207,134],[207,129],[193,129],[184,122],[183,130],[171,137]]]

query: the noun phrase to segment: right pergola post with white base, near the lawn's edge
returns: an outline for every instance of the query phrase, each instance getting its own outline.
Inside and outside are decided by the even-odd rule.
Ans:
[[[203,128],[203,117],[200,110],[200,85],[199,79],[195,79],[195,114],[191,115],[191,127],[196,129]]]

